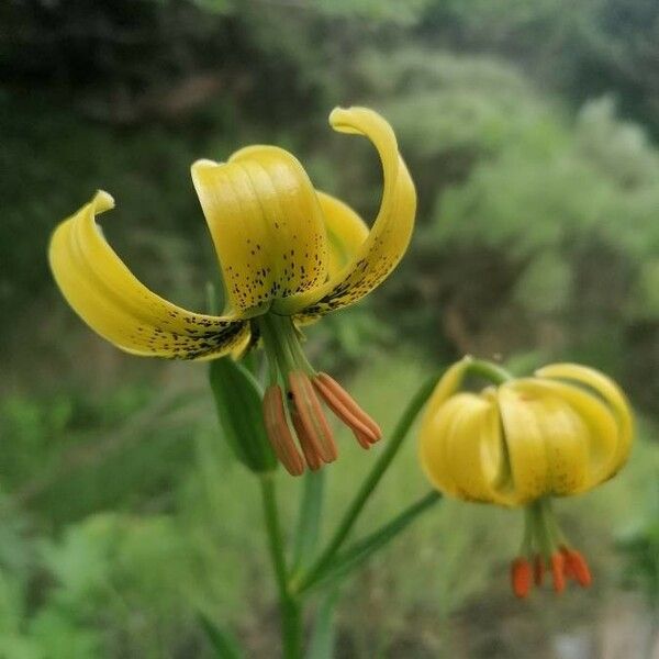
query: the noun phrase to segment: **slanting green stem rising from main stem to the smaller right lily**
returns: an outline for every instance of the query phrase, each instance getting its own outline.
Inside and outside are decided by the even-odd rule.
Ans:
[[[414,423],[416,415],[427,401],[428,396],[433,392],[435,384],[437,383],[438,376],[433,376],[428,378],[418,389],[414,398],[410,401],[407,409],[403,412],[391,439],[386,444],[384,450],[378,458],[378,461],[373,465],[370,473],[362,482],[361,488],[355,495],[353,503],[344,514],[342,521],[338,524],[338,527],[334,532],[334,535],[330,539],[330,543],[321,554],[321,556],[316,559],[313,566],[303,574],[300,576],[299,579],[295,579],[292,583],[292,589],[294,592],[301,592],[308,588],[308,585],[315,581],[317,574],[326,569],[335,554],[342,547],[344,540],[350,533],[353,525],[357,521],[357,517],[364,510],[366,502],[371,495],[372,491],[376,489],[377,484],[380,482],[382,476],[387,471],[388,467],[391,465],[391,461],[396,456],[398,451],[401,448],[403,439],[407,435],[410,427]]]

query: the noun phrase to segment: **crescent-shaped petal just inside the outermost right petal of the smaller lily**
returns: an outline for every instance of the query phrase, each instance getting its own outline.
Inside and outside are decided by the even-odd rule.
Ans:
[[[616,462],[618,427],[611,409],[599,396],[573,384],[549,379],[543,384],[569,403],[588,427],[588,476],[580,491],[611,478],[619,468]]]

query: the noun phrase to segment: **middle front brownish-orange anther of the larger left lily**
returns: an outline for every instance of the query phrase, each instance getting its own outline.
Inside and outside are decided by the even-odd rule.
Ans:
[[[324,462],[333,462],[337,456],[336,444],[309,377],[302,371],[293,371],[289,373],[289,384],[300,427],[303,428],[302,434],[298,434],[300,442],[304,439],[311,451]]]

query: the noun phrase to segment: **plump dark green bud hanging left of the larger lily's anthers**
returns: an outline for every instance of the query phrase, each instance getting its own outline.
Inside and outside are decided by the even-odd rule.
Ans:
[[[209,376],[220,425],[236,458],[259,473],[276,469],[264,425],[263,394],[254,376],[231,357],[211,361]]]

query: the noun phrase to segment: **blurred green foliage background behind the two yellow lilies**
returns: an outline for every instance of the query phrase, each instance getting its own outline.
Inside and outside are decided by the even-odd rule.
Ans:
[[[250,657],[273,656],[258,491],[222,442],[205,368],[93,335],[46,245],[103,188],[110,242],[154,290],[202,310],[217,268],[194,159],[278,144],[373,217],[379,164],[331,131],[337,104],[391,121],[420,212],[394,275],[309,328],[314,362],[387,432],[463,353],[520,373],[578,360],[624,384],[639,428],[618,478],[559,502],[590,591],[515,601],[521,515],[447,501],[346,584],[336,656],[652,656],[658,36],[655,0],[3,2],[0,657],[210,657],[199,611]],[[324,527],[373,459],[339,439]],[[290,520],[299,483],[280,481]],[[360,530],[426,490],[411,437]]]

